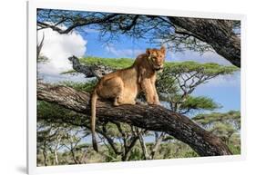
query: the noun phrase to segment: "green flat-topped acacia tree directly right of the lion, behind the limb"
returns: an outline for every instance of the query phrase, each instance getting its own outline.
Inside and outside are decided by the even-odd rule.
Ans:
[[[218,63],[167,63],[157,81],[160,100],[169,102],[169,108],[182,114],[214,110],[220,105],[208,97],[194,97],[191,93],[201,84],[208,83],[217,76],[232,74],[238,71],[235,66],[224,66]]]

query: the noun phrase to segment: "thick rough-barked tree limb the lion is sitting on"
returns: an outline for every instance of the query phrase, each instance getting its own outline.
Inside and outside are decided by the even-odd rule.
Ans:
[[[75,112],[90,115],[90,95],[66,86],[37,83],[37,99],[57,103]],[[122,105],[97,102],[97,119],[126,122],[150,131],[165,131],[183,141],[200,156],[230,155],[228,147],[209,131],[184,115],[158,105]]]

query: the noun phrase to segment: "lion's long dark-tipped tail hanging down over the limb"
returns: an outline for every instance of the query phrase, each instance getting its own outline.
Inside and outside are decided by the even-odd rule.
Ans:
[[[97,150],[97,141],[96,141],[96,102],[97,102],[97,92],[93,92],[91,96],[91,133],[92,133],[92,145],[95,151]]]

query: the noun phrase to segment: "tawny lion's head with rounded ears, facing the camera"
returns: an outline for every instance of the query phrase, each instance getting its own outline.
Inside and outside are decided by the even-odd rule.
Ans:
[[[164,67],[166,49],[161,46],[160,49],[147,49],[148,61],[155,71],[161,71]]]

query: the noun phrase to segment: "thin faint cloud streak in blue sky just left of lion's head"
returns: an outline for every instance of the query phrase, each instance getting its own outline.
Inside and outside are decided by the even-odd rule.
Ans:
[[[134,58],[138,54],[145,53],[145,50],[142,49],[117,49],[113,44],[108,44],[105,49],[108,53],[112,53],[118,58]]]

